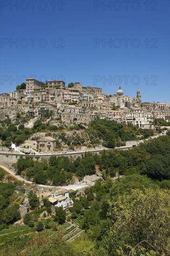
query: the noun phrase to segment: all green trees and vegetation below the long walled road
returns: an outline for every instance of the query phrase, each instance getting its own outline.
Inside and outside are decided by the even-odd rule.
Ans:
[[[13,235],[6,235],[11,237],[10,242],[3,240],[0,246],[1,255],[169,256],[170,135],[146,141],[127,151],[104,150],[100,155],[88,153],[76,160],[52,157],[48,162],[21,158],[17,163],[20,173],[23,168],[25,173],[29,170],[30,175],[33,171],[33,179],[37,174],[45,176],[45,183],[49,177],[50,182],[59,182],[60,172],[61,177],[64,172],[65,177],[76,173],[81,178],[85,173],[94,173],[95,166],[102,171],[104,181],[98,180],[84,193],[70,193],[74,204],[67,212],[58,208],[55,216],[50,216],[49,202],[43,199],[44,205],[39,208],[38,197],[30,192],[32,211],[25,215],[24,223],[38,233],[33,234],[32,230],[29,236],[20,236],[25,233],[22,230],[13,238],[12,231]],[[114,182],[111,177],[116,172],[124,177]],[[3,206],[1,225],[5,220],[9,225],[15,219],[9,219],[13,209],[9,199],[5,199],[13,195],[13,184],[4,184],[0,184],[4,198],[0,204]],[[44,210],[48,212],[48,219],[42,217],[39,221],[39,214]],[[76,223],[79,228],[69,227],[65,221]],[[61,230],[59,225],[68,229]],[[74,240],[72,236],[80,233],[80,229],[85,232]],[[7,231],[2,229],[1,232]]]

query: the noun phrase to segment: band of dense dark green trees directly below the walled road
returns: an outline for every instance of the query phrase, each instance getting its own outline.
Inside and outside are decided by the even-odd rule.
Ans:
[[[160,136],[141,143],[130,150],[116,150],[93,155],[90,152],[77,159],[66,156],[51,156],[49,161],[33,161],[32,157],[20,157],[16,168],[18,175],[25,175],[39,184],[55,186],[72,182],[73,175],[82,179],[95,174],[98,166],[103,177],[124,174],[146,174],[153,180],[170,179],[170,136]]]

